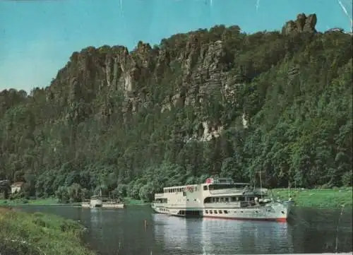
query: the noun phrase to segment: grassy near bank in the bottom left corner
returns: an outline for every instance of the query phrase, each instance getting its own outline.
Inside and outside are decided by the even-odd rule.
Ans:
[[[73,220],[0,207],[0,251],[13,255],[93,255],[81,242],[83,227]]]

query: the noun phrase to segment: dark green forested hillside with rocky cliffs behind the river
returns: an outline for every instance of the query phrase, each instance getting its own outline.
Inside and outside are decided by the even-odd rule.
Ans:
[[[352,185],[352,35],[315,24],[73,52],[47,88],[0,93],[0,179],[63,201],[258,171],[268,187]]]

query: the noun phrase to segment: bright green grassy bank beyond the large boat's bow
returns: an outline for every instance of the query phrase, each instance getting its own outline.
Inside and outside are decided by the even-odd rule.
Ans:
[[[273,196],[288,198],[288,189],[273,189]],[[352,208],[352,187],[339,189],[291,189],[296,206],[316,208]]]

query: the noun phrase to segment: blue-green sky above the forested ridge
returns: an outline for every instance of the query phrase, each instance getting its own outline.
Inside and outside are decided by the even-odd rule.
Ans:
[[[352,17],[350,0],[341,1]],[[318,30],[350,29],[337,0],[0,0],[0,91],[49,85],[72,52],[90,45],[133,49],[216,24],[280,30],[303,12],[316,13]]]

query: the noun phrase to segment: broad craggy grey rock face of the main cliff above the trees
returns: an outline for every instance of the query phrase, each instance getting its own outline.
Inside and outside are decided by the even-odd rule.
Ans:
[[[239,31],[239,28],[234,27],[234,30]],[[203,37],[206,31],[176,38],[179,39],[175,42],[179,47],[177,51],[169,47],[168,42],[153,49],[138,42],[132,52],[120,46],[88,47],[79,53],[74,52],[46,89],[47,101],[71,107],[66,113],[67,121],[80,121],[90,114],[101,119],[109,118],[116,110],[114,104],[109,104],[109,97],[116,91],[124,94],[122,112],[128,117],[155,104],[153,86],[164,81],[169,84],[163,84],[168,93],[160,105],[161,112],[185,106],[199,107],[203,112],[202,105],[214,93],[232,101],[234,88],[246,80],[234,78],[229,73],[229,61],[234,55],[222,40]],[[106,98],[98,110],[82,107],[103,95]],[[222,130],[222,124],[215,124],[206,116],[200,126],[203,130],[198,132],[205,141],[219,136]]]

